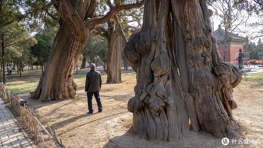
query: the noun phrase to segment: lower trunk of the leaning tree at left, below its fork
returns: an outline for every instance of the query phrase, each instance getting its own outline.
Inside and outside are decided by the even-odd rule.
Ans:
[[[31,93],[32,98],[39,98],[39,101],[74,98],[77,90],[77,84],[73,81],[74,68],[88,36],[82,36],[82,40],[78,41],[70,33],[64,33],[67,31],[69,27],[63,22],[39,84]],[[63,66],[59,63],[63,63]]]

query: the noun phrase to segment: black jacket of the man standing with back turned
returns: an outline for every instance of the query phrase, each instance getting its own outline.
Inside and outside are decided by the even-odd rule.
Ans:
[[[101,83],[102,80],[101,80],[100,72],[98,72],[95,69],[91,69],[86,76],[85,91],[88,92],[100,91]]]

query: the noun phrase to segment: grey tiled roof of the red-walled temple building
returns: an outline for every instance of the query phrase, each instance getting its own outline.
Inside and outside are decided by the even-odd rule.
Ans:
[[[221,29],[221,27],[219,27],[213,33],[217,41],[225,40],[225,30]],[[238,36],[238,34],[227,32],[227,35],[228,35],[227,40],[230,40],[230,41],[240,41],[240,42],[247,41],[247,38],[240,37]]]

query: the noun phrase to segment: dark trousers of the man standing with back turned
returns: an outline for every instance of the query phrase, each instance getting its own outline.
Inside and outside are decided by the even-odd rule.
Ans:
[[[101,105],[101,101],[100,101],[99,91],[87,92],[89,112],[93,113],[93,109],[92,109],[92,96],[93,96],[93,94],[94,94],[94,97],[97,101],[99,111],[101,112],[102,111],[102,105]]]

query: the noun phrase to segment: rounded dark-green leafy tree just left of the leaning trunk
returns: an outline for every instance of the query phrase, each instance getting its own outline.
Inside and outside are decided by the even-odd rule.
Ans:
[[[49,44],[49,39],[45,34],[37,33],[34,36],[37,40],[37,44],[29,48],[30,53],[37,58],[40,65],[44,65],[50,55],[51,45]]]

